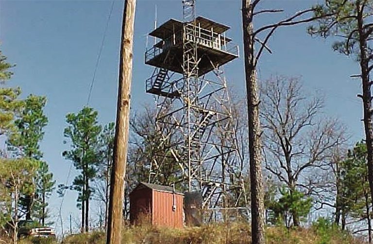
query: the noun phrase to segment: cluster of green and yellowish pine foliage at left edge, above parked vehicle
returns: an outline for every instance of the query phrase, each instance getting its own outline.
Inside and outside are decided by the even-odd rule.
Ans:
[[[14,67],[6,62],[0,51],[0,83],[9,80]],[[0,88],[0,135],[4,135],[11,154],[7,157],[17,159],[0,159],[0,177],[2,196],[0,219],[8,224],[17,222],[24,209],[26,218],[30,219],[33,211],[37,215],[37,206],[43,209],[48,205],[46,198],[53,190],[54,181],[48,172],[48,165],[41,161],[43,156],[39,142],[44,136],[44,127],[48,119],[44,114],[46,98],[29,95],[19,100],[20,88]],[[11,193],[11,194],[10,194]],[[34,199],[36,199],[34,204]],[[33,206],[35,209],[33,209]],[[44,218],[43,216],[43,223]],[[2,221],[1,224],[4,222]]]

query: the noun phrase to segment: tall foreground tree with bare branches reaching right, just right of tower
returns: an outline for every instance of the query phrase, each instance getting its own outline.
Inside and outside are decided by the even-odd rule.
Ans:
[[[264,243],[264,203],[263,184],[261,172],[261,128],[259,122],[259,99],[257,95],[256,66],[264,51],[270,53],[268,41],[280,26],[292,26],[313,21],[320,17],[332,16],[328,13],[322,16],[309,16],[317,9],[301,10],[293,15],[284,17],[272,24],[254,29],[254,17],[263,14],[276,14],[284,12],[282,9],[259,9],[261,0],[242,0],[242,27],[245,54],[245,80],[247,90],[248,130],[250,152],[250,181],[251,181],[251,206],[252,206],[252,242]],[[255,51],[255,46],[258,46]]]

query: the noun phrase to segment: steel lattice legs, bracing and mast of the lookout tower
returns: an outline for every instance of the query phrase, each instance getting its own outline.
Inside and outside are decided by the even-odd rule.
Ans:
[[[157,94],[156,128],[162,138],[149,182],[159,183],[162,167],[172,160],[180,169],[173,183],[202,191],[203,207],[246,207],[227,82],[212,61],[212,72],[198,74],[194,0],[183,1],[183,17],[182,76],[155,68],[147,80],[148,92]],[[168,52],[164,62],[173,60],[172,51]]]

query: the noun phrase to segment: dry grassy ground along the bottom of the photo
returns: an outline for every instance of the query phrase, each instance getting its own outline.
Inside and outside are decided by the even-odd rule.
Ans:
[[[266,232],[268,244],[364,244],[338,227],[319,221],[309,228],[287,229],[285,227],[268,227]],[[32,242],[24,240],[21,244]],[[64,244],[104,244],[105,234],[95,231],[89,234],[68,236]],[[250,225],[246,223],[214,224],[203,227],[184,229],[167,229],[150,226],[126,227],[123,229],[125,244],[250,244]],[[47,243],[45,243],[47,244]],[[48,242],[48,244],[51,244]]]

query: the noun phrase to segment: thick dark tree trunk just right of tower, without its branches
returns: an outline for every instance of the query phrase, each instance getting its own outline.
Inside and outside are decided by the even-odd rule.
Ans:
[[[256,85],[253,16],[250,0],[242,0],[243,44],[245,55],[245,78],[248,106],[252,243],[263,244],[264,240],[264,192],[261,169],[261,128],[259,122],[259,99]]]

